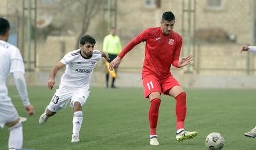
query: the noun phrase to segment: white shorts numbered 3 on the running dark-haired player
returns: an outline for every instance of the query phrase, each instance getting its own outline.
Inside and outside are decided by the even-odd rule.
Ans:
[[[54,93],[54,96],[52,96],[48,109],[51,112],[58,112],[61,108],[67,107],[68,103],[70,103],[70,107],[74,107],[76,101],[83,106],[89,93],[88,89],[77,89],[60,85],[59,89]]]

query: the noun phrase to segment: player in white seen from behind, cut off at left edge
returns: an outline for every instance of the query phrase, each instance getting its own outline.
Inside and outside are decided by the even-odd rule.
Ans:
[[[20,149],[23,143],[22,123],[11,98],[8,96],[6,80],[11,73],[22,99],[23,105],[29,115],[34,114],[34,107],[29,103],[25,68],[20,51],[17,47],[7,43],[10,36],[8,20],[0,18],[0,126],[6,125],[10,130],[8,148]]]

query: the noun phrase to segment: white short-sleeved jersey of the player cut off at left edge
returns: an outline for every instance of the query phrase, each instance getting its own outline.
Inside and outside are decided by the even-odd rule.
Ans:
[[[0,40],[0,102],[10,100],[6,87],[9,73],[20,71],[25,73],[25,67],[17,47]]]

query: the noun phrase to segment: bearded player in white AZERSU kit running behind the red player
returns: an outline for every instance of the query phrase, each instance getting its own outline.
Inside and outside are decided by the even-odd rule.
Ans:
[[[90,79],[92,71],[101,57],[108,60],[108,53],[93,50],[96,41],[92,36],[85,35],[80,40],[80,48],[68,52],[60,62],[51,70],[48,88],[52,89],[55,84],[54,78],[57,72],[66,66],[65,73],[61,77],[59,88],[52,96],[52,100],[40,116],[39,123],[44,124],[47,119],[68,103],[74,107],[73,133],[71,142],[79,142],[79,131],[83,122],[82,106],[89,96]]]

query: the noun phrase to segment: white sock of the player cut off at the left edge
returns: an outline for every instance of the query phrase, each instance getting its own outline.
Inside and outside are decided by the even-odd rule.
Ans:
[[[22,143],[23,143],[23,133],[22,133],[22,124],[17,123],[11,128],[10,135],[9,135],[9,141],[8,141],[8,147],[15,148],[15,149],[21,149]]]

